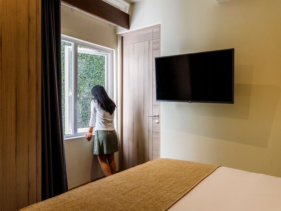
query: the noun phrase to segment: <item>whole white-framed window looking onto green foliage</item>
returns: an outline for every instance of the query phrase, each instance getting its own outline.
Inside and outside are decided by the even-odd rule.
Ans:
[[[62,36],[64,137],[84,135],[91,115],[91,89],[102,85],[113,97],[113,53],[106,47]]]

